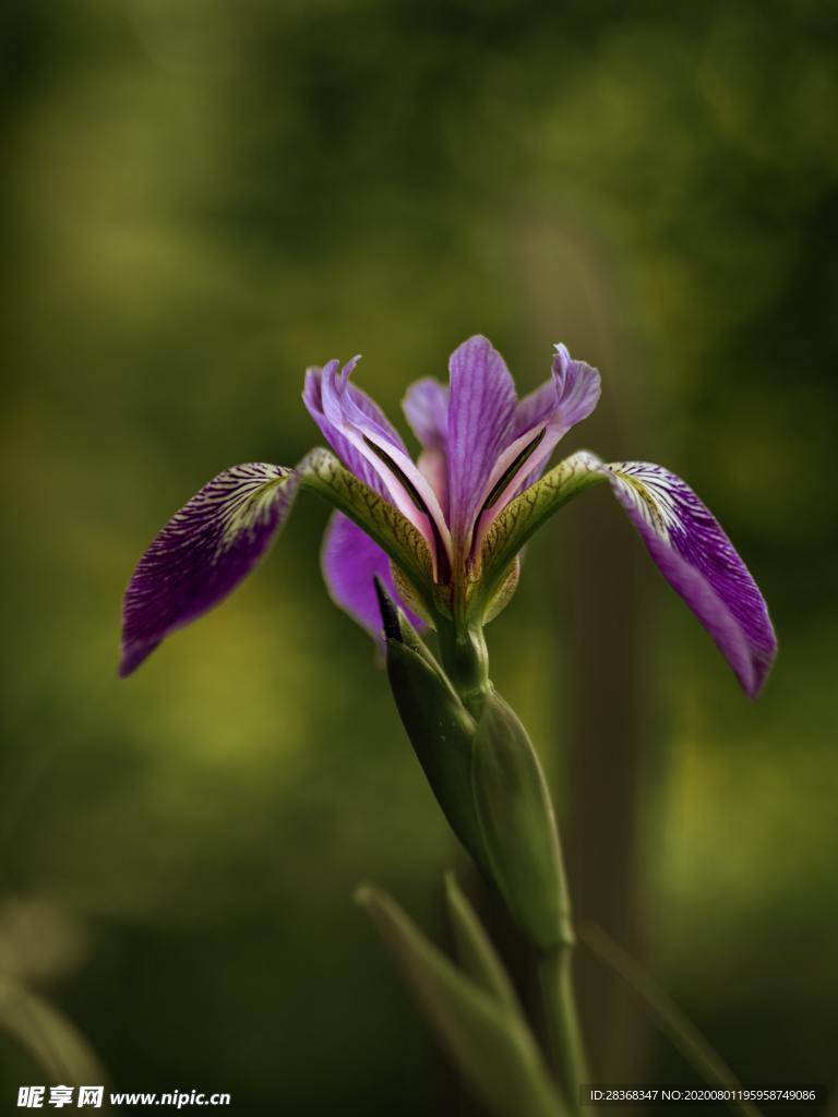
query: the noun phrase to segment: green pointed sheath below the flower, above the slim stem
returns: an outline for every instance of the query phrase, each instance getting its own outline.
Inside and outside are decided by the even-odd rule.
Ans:
[[[458,685],[467,705],[380,583],[378,593],[390,686],[446,818],[527,939],[539,949],[571,944],[555,819],[523,726],[487,679],[470,697]],[[482,661],[473,643],[460,650]]]

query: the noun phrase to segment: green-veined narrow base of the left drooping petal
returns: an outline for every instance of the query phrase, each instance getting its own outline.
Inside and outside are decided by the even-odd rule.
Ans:
[[[349,516],[410,579],[432,609],[434,573],[428,545],[399,509],[350,472],[328,450],[315,449],[297,466],[301,485]]]

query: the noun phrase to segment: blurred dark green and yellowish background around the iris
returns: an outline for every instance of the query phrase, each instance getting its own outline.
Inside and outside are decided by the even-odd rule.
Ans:
[[[396,417],[488,334],[603,402],[566,440],[713,507],[781,658],[750,704],[607,493],[489,630],[554,782],[580,922],[745,1080],[828,1083],[838,8],[21,0],[2,28],[0,973],[125,1089],[236,1111],[469,1111],[362,913],[445,941],[461,863],[301,500],[222,609],[116,679],[120,600],[220,469],[320,436],[310,363]],[[597,1076],[691,1080],[580,955]],[[44,1081],[0,1039],[0,1088]]]

